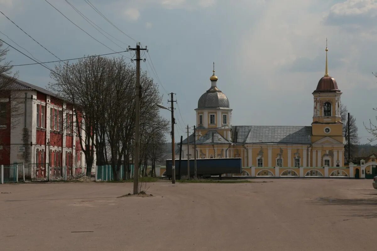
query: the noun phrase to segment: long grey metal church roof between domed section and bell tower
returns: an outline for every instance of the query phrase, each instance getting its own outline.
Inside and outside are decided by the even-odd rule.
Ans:
[[[311,126],[232,126],[232,142],[311,144]]]

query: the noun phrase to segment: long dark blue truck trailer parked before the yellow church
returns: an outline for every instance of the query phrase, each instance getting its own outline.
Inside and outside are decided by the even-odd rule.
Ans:
[[[190,176],[194,176],[194,160],[190,159]],[[196,175],[212,176],[223,173],[242,173],[241,158],[206,158],[196,160]],[[187,159],[175,160],[175,176],[187,175]],[[172,177],[172,160],[166,160],[166,176]]]

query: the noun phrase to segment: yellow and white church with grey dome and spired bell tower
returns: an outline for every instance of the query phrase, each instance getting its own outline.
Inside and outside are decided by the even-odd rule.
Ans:
[[[325,76],[313,91],[313,122],[310,126],[232,125],[232,109],[218,88],[218,77],[202,94],[196,111],[196,149],[193,134],[182,143],[182,156],[242,159],[242,175],[250,176],[351,176],[344,167],[345,138],[342,135],[340,96],[337,82]],[[347,170],[346,170],[347,169]]]

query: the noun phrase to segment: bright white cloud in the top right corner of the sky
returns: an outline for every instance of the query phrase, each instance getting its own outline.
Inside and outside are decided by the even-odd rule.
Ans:
[[[325,17],[325,24],[359,29],[374,26],[377,21],[375,0],[347,0],[333,5]]]

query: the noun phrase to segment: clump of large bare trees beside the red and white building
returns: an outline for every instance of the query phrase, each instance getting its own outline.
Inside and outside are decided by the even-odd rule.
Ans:
[[[53,79],[50,89],[73,104],[74,126],[85,154],[87,172],[92,165],[110,163],[114,179],[119,180],[123,164],[123,179],[129,179],[129,166],[134,159],[135,67],[124,58],[92,57],[56,65],[50,75]],[[156,103],[161,102],[162,96],[146,72],[141,72],[140,84],[139,163],[143,164],[142,175],[147,175],[150,161],[151,175],[155,175],[155,163],[164,151],[169,121],[159,114]]]

